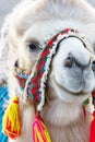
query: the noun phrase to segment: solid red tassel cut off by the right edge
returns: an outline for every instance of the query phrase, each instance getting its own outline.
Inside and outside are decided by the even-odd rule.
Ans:
[[[93,113],[94,119],[91,123],[90,142],[95,142],[95,111]]]

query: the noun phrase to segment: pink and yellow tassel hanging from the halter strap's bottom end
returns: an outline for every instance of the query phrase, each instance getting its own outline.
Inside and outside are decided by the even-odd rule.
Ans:
[[[33,141],[34,142],[51,142],[48,130],[40,116],[35,115],[33,123]]]

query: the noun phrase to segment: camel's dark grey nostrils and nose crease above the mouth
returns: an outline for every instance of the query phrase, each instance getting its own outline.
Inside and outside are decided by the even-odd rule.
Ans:
[[[85,69],[85,68],[90,68],[91,67],[91,60],[86,64],[82,64],[80,61],[78,61],[75,59],[75,57],[73,57],[72,54],[69,54],[68,58],[64,61],[64,67],[66,68],[80,67],[82,69]],[[92,69],[95,70],[95,61],[93,62]]]

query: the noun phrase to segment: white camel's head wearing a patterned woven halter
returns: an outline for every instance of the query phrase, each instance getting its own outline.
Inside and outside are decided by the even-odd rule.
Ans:
[[[95,87],[93,13],[83,0],[25,0],[14,9],[9,24],[8,84],[10,97],[15,94],[20,99],[24,127],[26,116],[29,128],[34,113],[39,111],[52,127],[80,121],[79,104],[82,108]]]

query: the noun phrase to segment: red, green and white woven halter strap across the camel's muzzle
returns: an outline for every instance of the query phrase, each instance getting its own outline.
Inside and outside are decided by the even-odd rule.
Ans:
[[[20,87],[24,91],[24,96],[34,103],[38,111],[41,110],[45,104],[45,87],[51,60],[59,48],[58,45],[60,42],[69,37],[79,38],[83,43],[84,47],[92,54],[87,40],[81,36],[78,31],[64,28],[55,35],[43,48],[31,72],[15,68],[15,76],[19,81]]]

